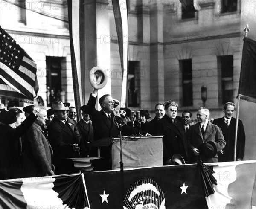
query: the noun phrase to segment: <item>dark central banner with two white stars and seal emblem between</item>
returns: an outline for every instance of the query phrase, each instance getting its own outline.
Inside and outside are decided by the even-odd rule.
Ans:
[[[90,208],[208,209],[197,165],[84,173]]]

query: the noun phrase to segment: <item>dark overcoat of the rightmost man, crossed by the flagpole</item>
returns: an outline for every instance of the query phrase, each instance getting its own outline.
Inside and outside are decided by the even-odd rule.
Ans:
[[[219,162],[234,161],[236,119],[232,117],[228,127],[225,123],[224,117],[215,119],[212,123],[215,125],[218,125],[218,127],[221,128],[224,139],[227,142],[226,146],[222,150],[224,154],[221,154],[221,153],[218,154],[219,155],[218,161]],[[238,120],[236,160],[238,158],[243,159],[244,148],[245,148],[244,125],[241,120]]]

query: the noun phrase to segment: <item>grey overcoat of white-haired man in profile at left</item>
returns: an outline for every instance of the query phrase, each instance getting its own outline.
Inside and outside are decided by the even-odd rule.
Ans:
[[[52,147],[43,129],[34,122],[22,137],[22,168],[24,177],[45,176],[54,171]]]

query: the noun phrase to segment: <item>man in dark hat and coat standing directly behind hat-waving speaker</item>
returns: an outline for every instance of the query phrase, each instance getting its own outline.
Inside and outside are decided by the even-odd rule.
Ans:
[[[82,111],[83,118],[77,123],[77,128],[80,133],[81,140],[84,142],[85,148],[87,150],[86,155],[88,156],[90,147],[87,146],[87,143],[93,141],[93,124],[90,122],[87,105],[81,106],[80,110]]]

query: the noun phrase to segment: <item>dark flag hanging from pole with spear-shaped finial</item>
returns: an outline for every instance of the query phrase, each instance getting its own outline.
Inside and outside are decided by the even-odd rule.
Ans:
[[[256,41],[244,37],[238,94],[256,103]]]

